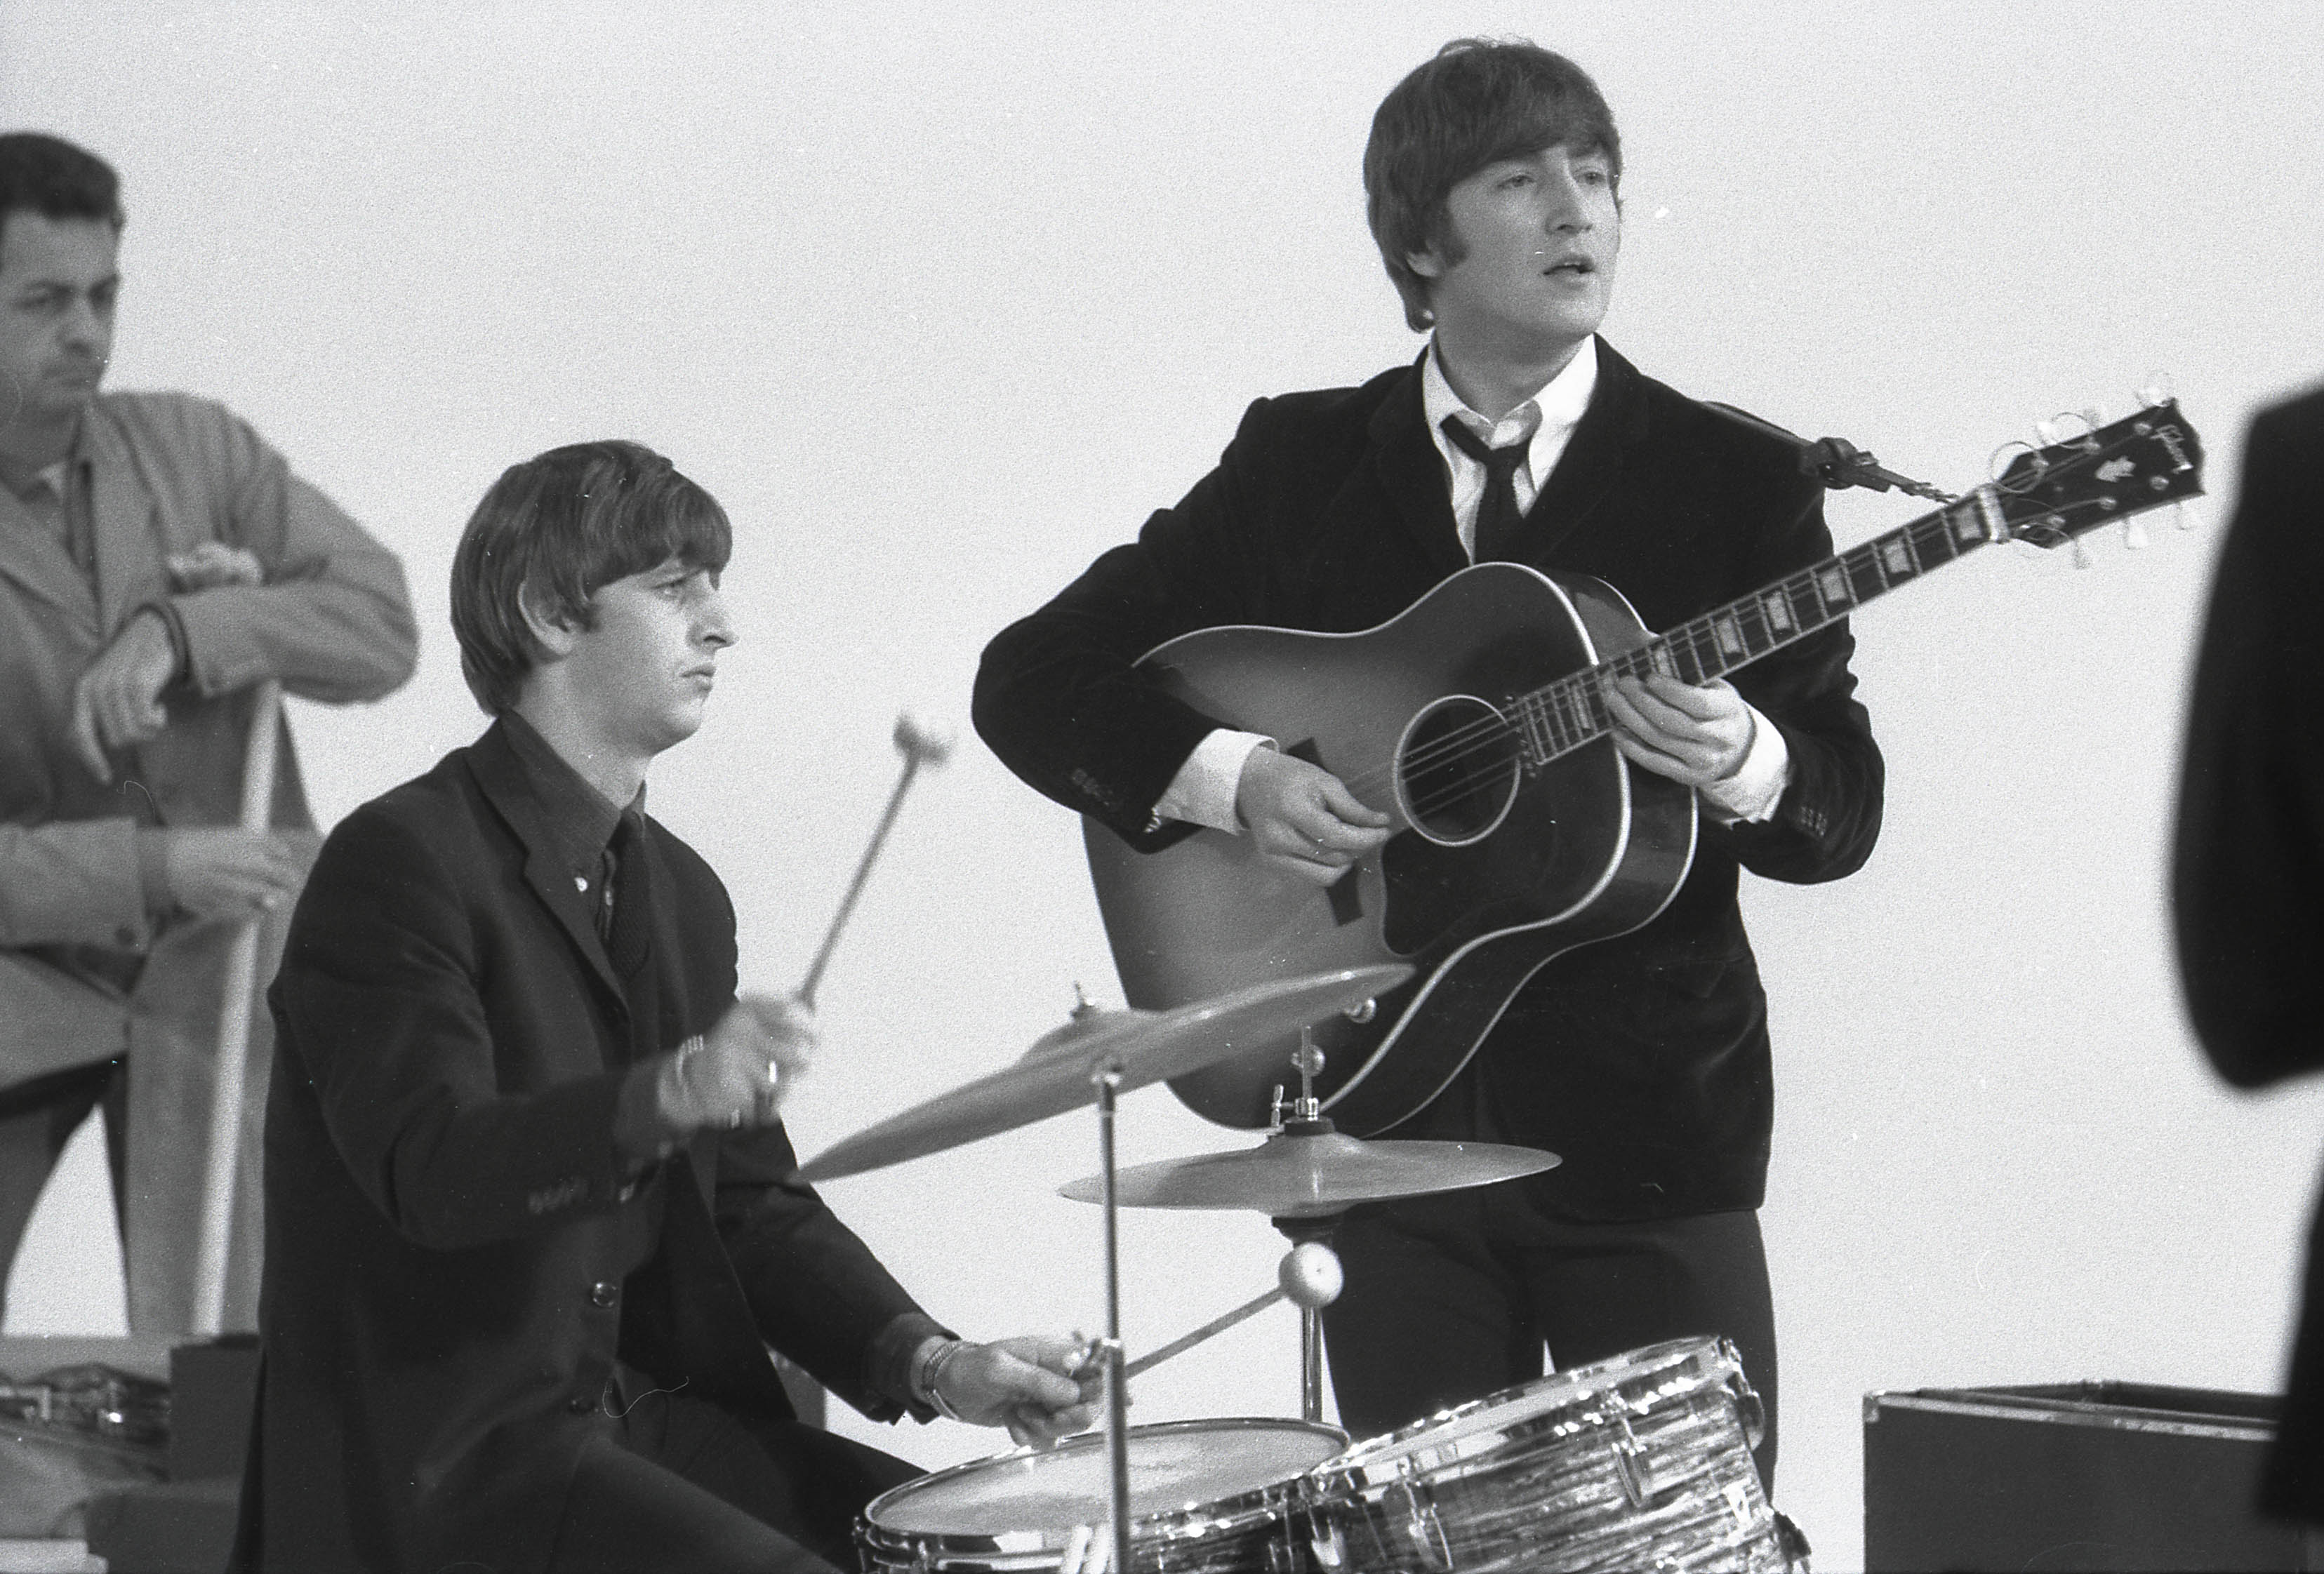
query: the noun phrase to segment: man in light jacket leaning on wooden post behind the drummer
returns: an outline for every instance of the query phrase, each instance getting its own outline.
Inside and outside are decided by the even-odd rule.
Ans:
[[[311,830],[281,749],[239,830],[253,693],[376,700],[416,658],[402,567],[246,423],[102,393],[121,291],[114,170],[0,135],[0,1274],[65,1142],[105,1111],[128,1325],[184,1332],[232,932],[284,902]],[[253,1011],[225,1325],[258,1304]]]

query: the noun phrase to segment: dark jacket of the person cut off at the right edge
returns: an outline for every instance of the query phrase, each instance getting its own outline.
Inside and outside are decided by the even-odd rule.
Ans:
[[[2173,911],[2212,1065],[2245,1088],[2324,1067],[2324,391],[2252,423],[2187,711]],[[2324,1523],[2324,1218],[2268,1507]]]

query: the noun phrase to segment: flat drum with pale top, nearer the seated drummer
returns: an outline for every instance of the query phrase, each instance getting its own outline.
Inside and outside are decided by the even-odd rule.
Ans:
[[[1129,1428],[1134,1574],[1294,1574],[1299,1481],[1348,1446],[1306,1421],[1171,1421]],[[1076,1525],[1111,1518],[1104,1432],[906,1481],[855,1525],[865,1574],[1060,1569]]]

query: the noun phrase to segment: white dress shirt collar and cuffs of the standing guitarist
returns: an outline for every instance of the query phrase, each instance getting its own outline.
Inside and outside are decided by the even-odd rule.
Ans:
[[[1443,458],[1446,486],[1452,498],[1452,525],[1459,530],[1462,551],[1471,563],[1476,563],[1476,514],[1478,502],[1485,498],[1485,465],[1469,458],[1446,437],[1446,418],[1450,416],[1483,437],[1487,449],[1532,442],[1525,463],[1511,472],[1518,509],[1532,511],[1550,472],[1557,470],[1557,460],[1564,458],[1566,444],[1573,442],[1573,428],[1580,425],[1583,414],[1590,409],[1592,393],[1597,393],[1594,335],[1583,339],[1557,377],[1536,388],[1529,400],[1499,421],[1469,409],[1446,379],[1436,346],[1429,346],[1427,360],[1420,363],[1420,409],[1429,425],[1429,439],[1436,444],[1439,458]],[[1792,784],[1792,751],[1785,746],[1783,732],[1757,707],[1745,704],[1745,709],[1752,716],[1752,739],[1743,765],[1734,774],[1697,788],[1710,816],[1729,825],[1736,821],[1771,818],[1776,804],[1783,800],[1783,790]],[[1155,823],[1190,821],[1229,835],[1239,832],[1241,818],[1236,816],[1234,797],[1241,786],[1243,760],[1250,758],[1253,749],[1274,746],[1276,739],[1257,732],[1236,732],[1232,728],[1208,732],[1185,756],[1162,797],[1155,800]]]

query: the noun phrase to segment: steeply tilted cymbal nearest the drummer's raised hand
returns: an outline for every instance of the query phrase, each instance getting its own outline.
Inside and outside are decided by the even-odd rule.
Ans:
[[[1408,976],[1411,967],[1390,963],[1250,983],[1171,1011],[1081,1007],[1074,1021],[1041,1035],[1016,1065],[837,1142],[799,1165],[799,1179],[834,1181],[902,1165],[1092,1104],[1090,1076],[1106,1063],[1120,1069],[1122,1093],[1199,1072],[1385,995]]]

